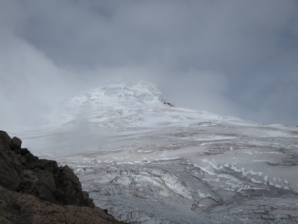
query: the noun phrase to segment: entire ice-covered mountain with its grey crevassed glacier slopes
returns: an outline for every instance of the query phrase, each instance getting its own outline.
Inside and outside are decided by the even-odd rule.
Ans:
[[[9,134],[71,167],[119,220],[298,222],[297,127],[164,102],[151,83],[109,84],[70,97],[38,129]]]

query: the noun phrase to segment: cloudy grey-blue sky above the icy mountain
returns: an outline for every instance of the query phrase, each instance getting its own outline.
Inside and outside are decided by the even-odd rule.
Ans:
[[[298,1],[0,1],[0,126],[120,79],[179,107],[296,126]]]

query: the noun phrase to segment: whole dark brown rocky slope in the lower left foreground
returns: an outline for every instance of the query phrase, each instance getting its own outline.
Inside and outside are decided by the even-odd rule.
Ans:
[[[68,166],[39,159],[0,131],[0,223],[123,223],[95,207]]]

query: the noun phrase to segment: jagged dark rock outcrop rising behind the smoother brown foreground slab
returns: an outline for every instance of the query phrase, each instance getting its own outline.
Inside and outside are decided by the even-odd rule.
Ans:
[[[21,139],[0,131],[0,185],[55,204],[95,207],[71,168],[39,159],[21,144]]]

